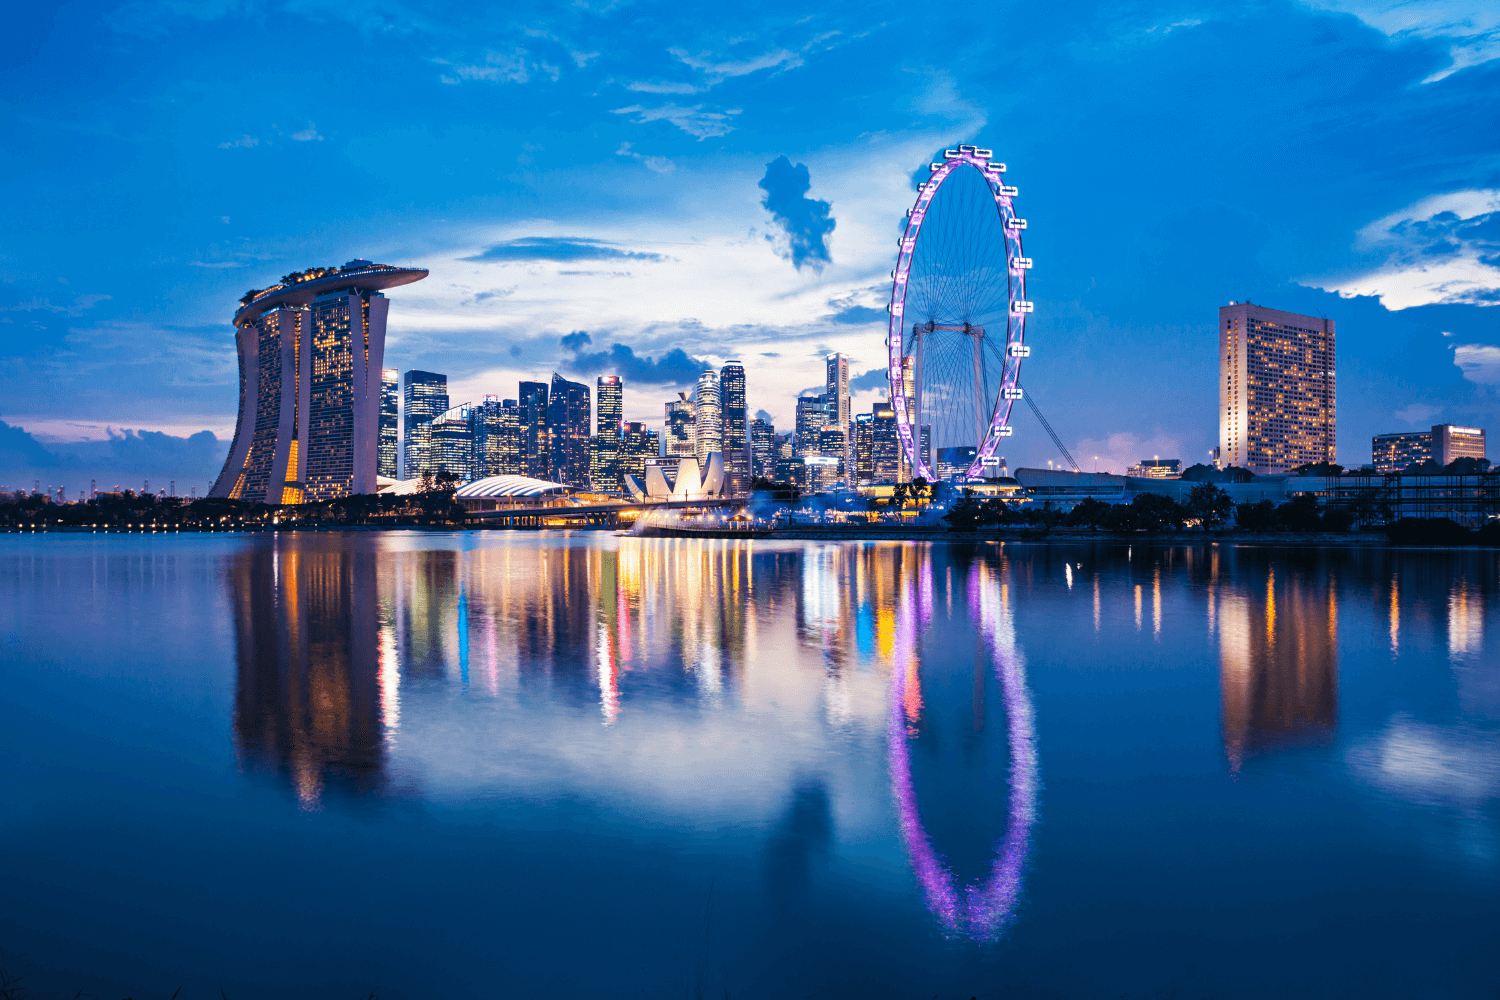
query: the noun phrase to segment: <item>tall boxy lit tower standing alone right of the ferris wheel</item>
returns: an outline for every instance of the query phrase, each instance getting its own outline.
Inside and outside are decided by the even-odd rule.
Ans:
[[[1256,475],[1332,462],[1335,427],[1334,321],[1220,309],[1220,460]]]

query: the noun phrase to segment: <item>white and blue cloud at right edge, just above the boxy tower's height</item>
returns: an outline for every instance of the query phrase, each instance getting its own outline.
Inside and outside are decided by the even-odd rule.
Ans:
[[[1384,261],[1353,277],[1302,283],[1346,298],[1377,295],[1392,310],[1500,304],[1500,189],[1424,198],[1364,226],[1354,249]]]

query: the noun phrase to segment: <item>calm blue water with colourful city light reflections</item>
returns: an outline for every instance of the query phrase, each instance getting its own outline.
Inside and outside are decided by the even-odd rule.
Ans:
[[[0,537],[98,997],[1494,997],[1494,552]]]

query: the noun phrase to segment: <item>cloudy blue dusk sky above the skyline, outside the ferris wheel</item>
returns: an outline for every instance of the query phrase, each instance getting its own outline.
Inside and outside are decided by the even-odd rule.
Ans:
[[[54,451],[129,427],[201,465],[189,435],[232,433],[238,295],[356,256],[430,268],[392,292],[387,364],[456,399],[620,370],[660,423],[700,363],[741,358],[789,424],[828,351],[880,369],[898,223],[958,142],[1020,187],[1024,381],[1084,466],[1206,456],[1232,298],[1336,319],[1346,463],[1376,432],[1500,430],[1496,4],[10,16],[0,420]],[[1016,424],[1012,466],[1058,457]],[[6,480],[32,439],[0,438]]]

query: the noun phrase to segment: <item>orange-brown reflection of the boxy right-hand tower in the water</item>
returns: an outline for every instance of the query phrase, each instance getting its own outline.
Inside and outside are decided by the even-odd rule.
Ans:
[[[1216,616],[1230,769],[1238,772],[1248,754],[1330,739],[1338,718],[1338,601],[1326,568],[1268,567],[1263,586],[1220,589]]]

